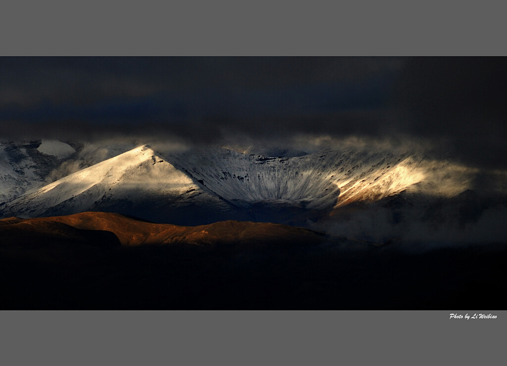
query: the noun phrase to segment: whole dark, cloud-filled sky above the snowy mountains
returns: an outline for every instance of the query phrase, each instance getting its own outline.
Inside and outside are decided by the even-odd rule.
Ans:
[[[506,72],[483,57],[4,57],[0,138],[417,138],[504,166]]]

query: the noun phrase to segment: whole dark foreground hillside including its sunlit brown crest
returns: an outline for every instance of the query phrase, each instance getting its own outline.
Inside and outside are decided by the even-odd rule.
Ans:
[[[444,244],[378,246],[269,223],[184,227],[99,212],[4,219],[0,306],[505,308],[507,245]]]

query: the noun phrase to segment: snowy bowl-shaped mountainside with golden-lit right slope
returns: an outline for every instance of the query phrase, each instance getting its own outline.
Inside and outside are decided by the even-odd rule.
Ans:
[[[278,199],[325,209],[354,197],[378,200],[424,179],[407,155],[353,149],[288,158],[211,149],[167,159],[215,194],[243,206]]]

